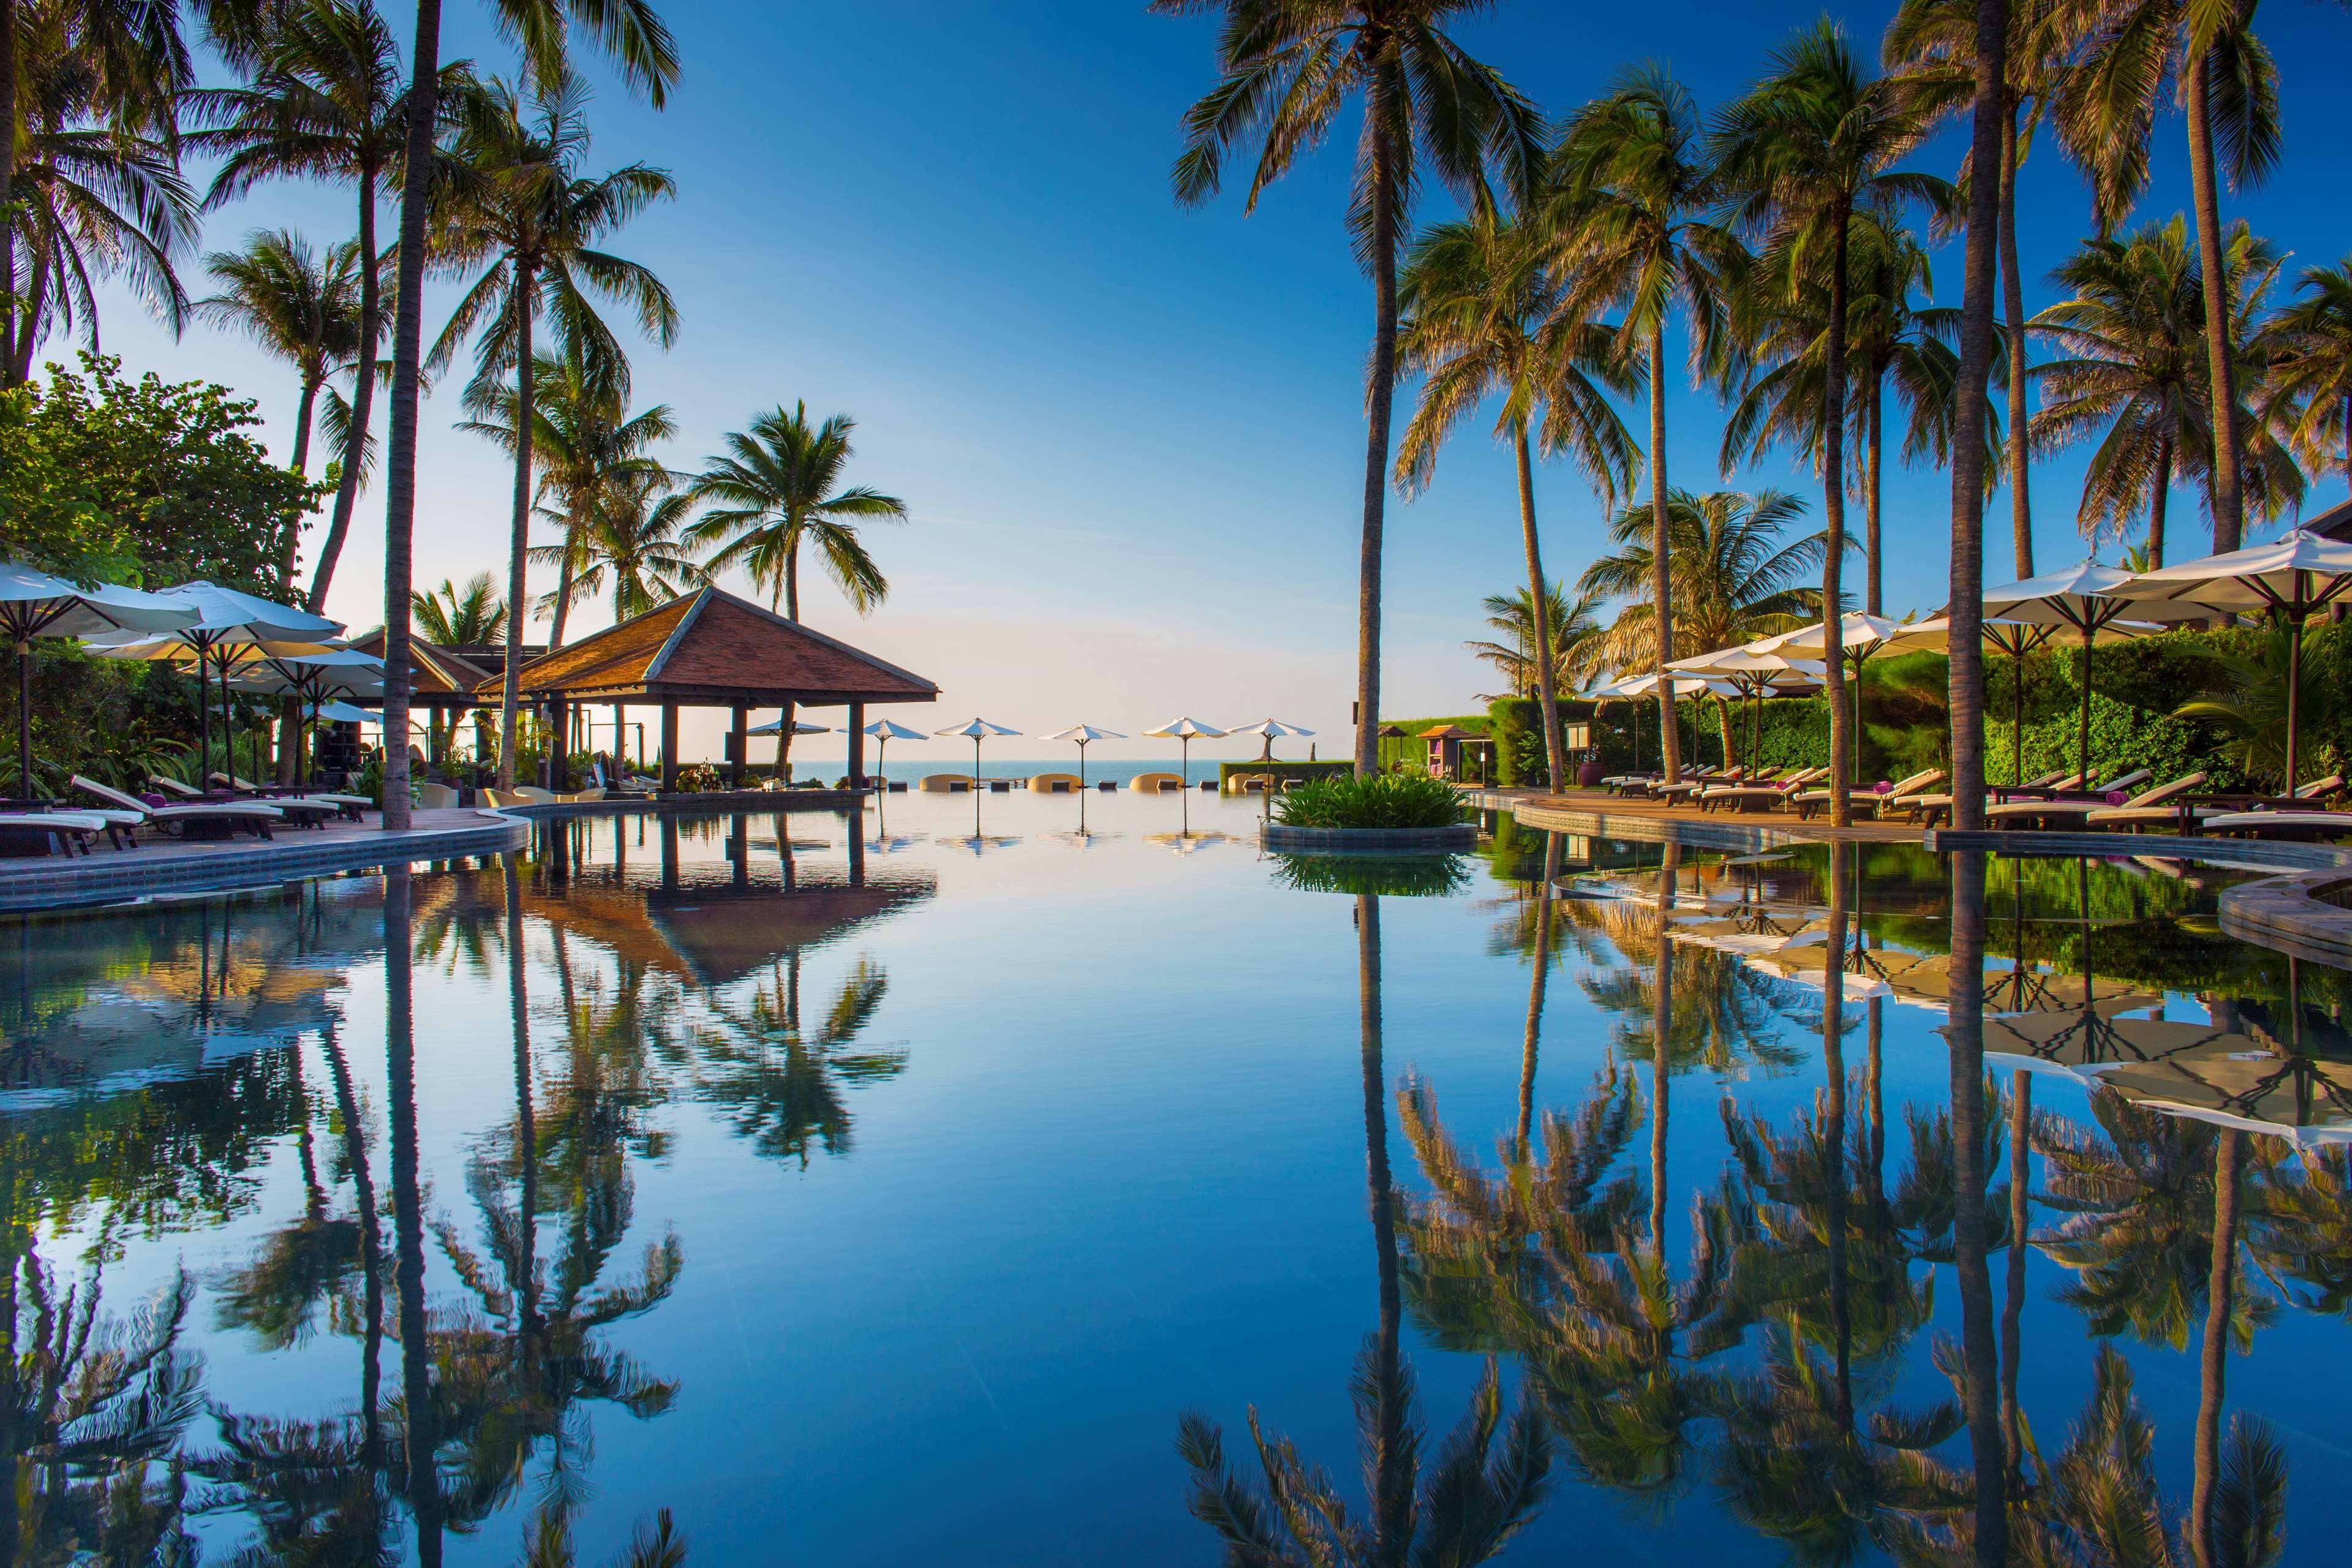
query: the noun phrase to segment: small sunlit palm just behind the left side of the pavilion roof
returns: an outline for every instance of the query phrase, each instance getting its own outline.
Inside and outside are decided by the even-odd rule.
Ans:
[[[677,435],[670,404],[659,402],[642,414],[628,411],[628,362],[593,362],[576,343],[564,341],[564,353],[539,355],[532,371],[532,456],[539,463],[539,494],[555,503],[555,520],[564,527],[564,548],[555,555],[539,552],[539,559],[557,567],[548,646],[564,644],[564,621],[583,597],[574,590],[581,571],[581,550],[595,508],[614,487],[623,491],[649,480],[666,480],[668,470],[647,449]],[[515,451],[515,388],[506,383],[468,388],[468,404],[480,418],[461,430],[487,435],[508,451]],[[588,590],[595,592],[595,590]]]

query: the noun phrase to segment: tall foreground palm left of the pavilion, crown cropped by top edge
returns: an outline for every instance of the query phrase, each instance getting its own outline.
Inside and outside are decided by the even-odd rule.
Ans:
[[[0,5],[7,2],[0,0]],[[532,75],[548,92],[557,92],[569,75],[567,52],[574,19],[590,31],[628,89],[654,108],[668,101],[670,87],[677,82],[677,47],[661,16],[654,14],[652,0],[496,0],[496,12],[503,31],[522,40]],[[416,0],[409,82],[428,82],[430,87],[409,94],[407,143],[402,146],[402,160],[409,169],[433,167],[440,134],[440,14],[442,0]],[[416,552],[416,402],[423,390],[426,228],[433,183],[433,179],[409,179],[400,188],[393,430],[383,482],[386,733],[407,733],[409,724],[409,623],[402,607],[409,602]],[[390,745],[383,750],[383,827],[397,832],[407,825],[409,752],[405,745]]]

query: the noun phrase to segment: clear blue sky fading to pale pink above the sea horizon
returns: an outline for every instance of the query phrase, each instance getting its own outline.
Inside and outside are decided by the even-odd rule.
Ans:
[[[1832,9],[1875,52],[1889,5]],[[388,14],[405,28],[405,7]],[[1181,209],[1167,167],[1176,120],[1211,80],[1209,19],[1120,0],[971,7],[670,5],[684,80],[666,113],[590,68],[593,162],[644,160],[680,197],[612,249],[677,294],[677,346],[637,355],[640,402],[668,402],[694,468],[755,411],[807,400],[858,418],[851,480],[906,496],[913,520],[880,529],[889,602],[868,621],[804,574],[804,616],[943,686],[938,729],[981,712],[1037,733],[1080,719],[1136,731],[1190,712],[1265,715],[1348,748],[1355,538],[1362,494],[1362,364],[1371,289],[1341,226],[1352,118],[1242,216],[1228,195]],[[1498,5],[1465,42],[1550,113],[1566,113],[1635,59],[1658,56],[1719,103],[1816,12],[1719,0],[1679,7]],[[445,54],[510,71],[487,7],[452,5]],[[2352,21],[2274,0],[2263,33],[2281,61],[2286,162],[2230,195],[2296,266],[2352,249],[2345,68]],[[2183,127],[2157,127],[2157,176],[2140,216],[2187,202]],[[1947,139],[1919,165],[1950,172]],[[2020,186],[2027,308],[2039,277],[2086,233],[2079,176],[2044,143]],[[1439,216],[1442,200],[1423,216]],[[386,233],[390,233],[386,212]],[[207,221],[205,247],[292,223],[318,242],[350,230],[350,195],[282,186]],[[188,268],[191,284],[198,270]],[[1959,303],[1957,249],[1938,296]],[[454,284],[435,284],[437,331]],[[209,376],[261,400],[287,440],[294,386],[247,343],[207,327],[172,341],[113,299],[106,348],[132,369]],[[56,353],[52,346],[49,353]],[[1402,402],[1399,402],[1402,407]],[[1637,409],[1630,409],[1637,414]],[[454,381],[426,409],[416,578],[503,574],[510,475],[452,430]],[[1399,414],[1402,423],[1402,414]],[[1639,425],[1637,425],[1639,428]],[[1722,409],[1675,388],[1672,482],[1717,487]],[[2079,559],[2079,458],[2034,470],[2039,564]],[[1783,461],[1733,484],[1811,480]],[[1573,576],[1604,548],[1599,503],[1566,468],[1536,477],[1545,564]],[[2338,477],[2312,501],[2340,498]],[[2006,576],[2006,496],[1994,498],[1987,576]],[[1816,496],[1818,510],[1818,496]],[[1940,473],[1891,473],[1889,609],[1943,599],[1950,489]],[[2176,555],[2201,531],[2176,491]],[[1390,715],[1461,712],[1494,675],[1461,651],[1479,599],[1522,574],[1508,451],[1484,423],[1456,437],[1435,487],[1390,505],[1385,691]],[[381,496],[365,496],[332,609],[381,618]],[[741,583],[729,583],[743,588]],[[609,616],[586,616],[600,625]],[[710,729],[715,736],[715,729]],[[687,750],[715,745],[689,724]],[[797,755],[828,755],[823,741]],[[837,752],[835,748],[830,748]],[[1049,748],[1040,748],[1049,750]],[[1152,755],[1157,743],[1098,755]],[[1235,748],[1240,755],[1240,748]]]

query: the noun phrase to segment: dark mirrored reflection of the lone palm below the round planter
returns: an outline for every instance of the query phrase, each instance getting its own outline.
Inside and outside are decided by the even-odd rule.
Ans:
[[[1402,1354],[1402,1286],[1397,1267],[1397,1190],[1388,1166],[1388,1079],[1381,1044],[1381,896],[1357,893],[1357,1032],[1364,1065],[1364,1182],[1371,1204],[1378,1272],[1378,1326],[1355,1361],[1357,1441],[1364,1460],[1367,1512],[1350,1516],[1331,1474],[1310,1465],[1284,1436],[1268,1436],[1249,1410],[1249,1436],[1265,1490],[1242,1481],[1225,1462],[1223,1432],[1200,1410],[1178,1422],[1176,1450],[1192,1467],[1192,1516],[1225,1542],[1228,1563],[1289,1568],[1334,1563],[1484,1563],[1534,1519],[1550,1476],[1552,1450],[1543,1418],[1522,1399],[1503,1415],[1501,1371],[1470,1396],[1470,1410],[1439,1446],[1423,1483],[1423,1434],[1414,1418],[1414,1373]],[[1501,1448],[1496,1436],[1501,1434]]]

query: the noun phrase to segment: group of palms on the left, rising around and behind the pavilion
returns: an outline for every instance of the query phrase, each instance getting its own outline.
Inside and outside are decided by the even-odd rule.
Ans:
[[[419,5],[409,61],[372,0],[216,0],[186,19],[233,75],[207,87],[174,7],[0,0],[0,127],[16,132],[0,143],[0,299],[12,306],[0,310],[0,383],[26,381],[52,336],[80,334],[94,348],[96,287],[108,280],[141,289],[174,329],[198,315],[285,360],[299,388],[294,470],[310,468],[315,423],[332,447],[313,609],[379,465],[381,388],[390,733],[407,724],[419,395],[468,348],[466,428],[515,458],[506,604],[517,632],[534,609],[534,562],[555,569],[536,602],[555,644],[588,597],[609,590],[628,616],[727,567],[746,567],[797,618],[804,543],[863,614],[889,585],[856,527],[906,515],[894,496],[840,482],[847,416],[779,407],[694,475],[654,458],[675,421],[668,407],[630,407],[628,355],[607,310],[668,346],[677,306],[649,268],[604,244],[675,183],[647,165],[588,167],[588,94],[572,56],[586,40],[661,108],[680,75],[675,45],[644,0],[501,0],[496,16],[520,47],[515,78],[445,63],[437,0]],[[219,160],[202,195],[183,150]],[[254,233],[238,252],[205,256],[216,292],[193,301],[179,266],[202,212],[282,179],[348,188],[350,237],[315,247],[292,230]],[[393,244],[379,237],[388,197]],[[428,270],[461,284],[430,343]],[[534,548],[541,520],[557,541]],[[289,543],[285,592],[294,571]],[[515,766],[517,670],[520,635],[508,639],[501,780]],[[409,799],[405,748],[388,748],[386,769],[393,827]]]

